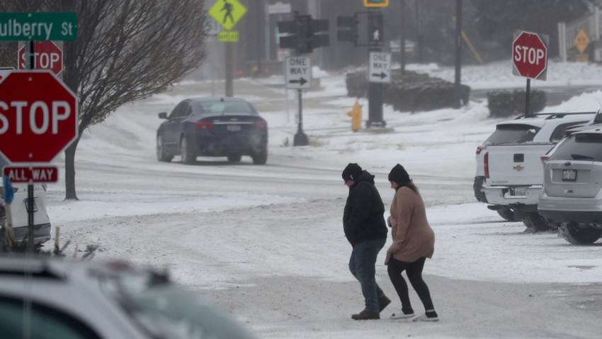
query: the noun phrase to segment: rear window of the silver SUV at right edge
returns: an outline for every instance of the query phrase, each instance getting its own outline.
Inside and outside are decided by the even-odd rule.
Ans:
[[[579,133],[571,135],[550,155],[550,160],[594,160],[602,162],[602,134]]]

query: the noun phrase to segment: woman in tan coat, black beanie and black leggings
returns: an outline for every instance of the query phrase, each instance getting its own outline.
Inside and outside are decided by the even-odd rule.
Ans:
[[[422,279],[426,258],[435,251],[435,233],[426,220],[424,201],[402,165],[395,165],[389,173],[395,196],[391,203],[391,228],[393,243],[387,250],[387,272],[402,301],[402,309],[392,314],[392,319],[411,318],[414,310],[409,300],[408,286],[402,277],[405,270],[411,286],[420,297],[426,313],[414,321],[438,321],[428,286]]]

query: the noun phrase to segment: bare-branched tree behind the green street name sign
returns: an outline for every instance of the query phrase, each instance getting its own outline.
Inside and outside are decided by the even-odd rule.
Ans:
[[[123,104],[166,91],[205,57],[203,0],[0,0],[4,12],[76,12],[78,37],[63,44],[63,82],[79,98],[79,135]],[[16,67],[17,43],[0,44]],[[65,199],[77,199],[65,151]]]

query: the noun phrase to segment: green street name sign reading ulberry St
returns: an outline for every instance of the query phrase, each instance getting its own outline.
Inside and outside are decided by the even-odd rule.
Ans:
[[[76,40],[77,13],[0,13],[0,41]]]

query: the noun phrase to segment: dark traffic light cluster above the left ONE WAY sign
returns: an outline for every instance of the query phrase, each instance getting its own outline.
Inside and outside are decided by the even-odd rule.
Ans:
[[[316,34],[328,31],[328,20],[312,20],[309,15],[295,14],[294,21],[279,21],[278,31],[280,33],[292,33],[292,35],[280,37],[280,48],[291,48],[297,54],[311,53],[314,48],[330,45],[330,35]]]

